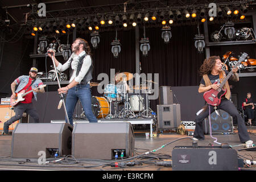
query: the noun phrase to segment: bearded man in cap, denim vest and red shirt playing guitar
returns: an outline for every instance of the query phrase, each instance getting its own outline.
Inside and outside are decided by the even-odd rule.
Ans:
[[[31,68],[29,72],[29,76],[23,75],[19,76],[14,80],[14,82],[11,84],[11,92],[13,94],[11,95],[12,98],[16,97],[16,93],[19,93],[22,90],[25,90],[25,92],[28,92],[30,90],[33,90],[33,92],[28,93],[26,96],[24,96],[25,100],[20,101],[19,104],[15,105],[14,117],[11,117],[8,121],[6,121],[3,124],[3,133],[8,134],[9,133],[9,126],[22,118],[22,114],[26,112],[29,114],[35,123],[39,122],[39,115],[36,111],[35,107],[32,104],[32,98],[36,100],[36,94],[37,93],[44,93],[44,88],[37,89],[39,85],[43,85],[42,80],[36,79],[36,75],[38,74],[38,69]],[[18,85],[18,88],[15,90],[16,85]]]

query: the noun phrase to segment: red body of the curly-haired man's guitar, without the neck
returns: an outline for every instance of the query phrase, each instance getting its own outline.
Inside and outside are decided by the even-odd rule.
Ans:
[[[221,103],[221,98],[226,94],[226,89],[218,90],[210,89],[204,93],[204,100],[212,106],[218,106]]]

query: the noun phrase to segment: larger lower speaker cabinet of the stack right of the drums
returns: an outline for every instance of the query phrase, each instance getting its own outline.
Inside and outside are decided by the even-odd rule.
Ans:
[[[180,104],[157,105],[158,129],[171,129],[180,126]]]

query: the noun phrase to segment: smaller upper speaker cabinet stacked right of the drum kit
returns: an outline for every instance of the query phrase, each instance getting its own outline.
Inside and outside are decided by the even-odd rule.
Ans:
[[[159,87],[159,105],[174,104],[171,86]]]

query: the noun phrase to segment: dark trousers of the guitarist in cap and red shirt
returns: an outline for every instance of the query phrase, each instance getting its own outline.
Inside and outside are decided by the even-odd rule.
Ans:
[[[34,108],[33,104],[23,104],[19,103],[14,107],[15,115],[14,117],[11,117],[8,121],[6,121],[3,124],[3,132],[8,133],[9,132],[9,126],[14,123],[15,121],[22,118],[23,113],[29,114],[33,118],[34,123],[39,122],[39,115],[36,109]]]

